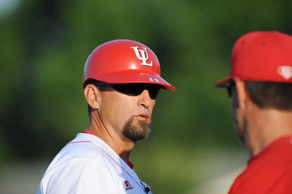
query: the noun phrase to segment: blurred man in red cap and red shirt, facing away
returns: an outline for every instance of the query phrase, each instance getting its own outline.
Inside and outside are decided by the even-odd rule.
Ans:
[[[232,50],[226,88],[240,141],[251,158],[229,194],[292,193],[292,37],[249,32]]]

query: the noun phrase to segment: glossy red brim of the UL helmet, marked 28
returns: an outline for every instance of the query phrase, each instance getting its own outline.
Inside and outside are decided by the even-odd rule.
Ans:
[[[141,71],[140,69],[103,74],[99,75],[96,80],[106,83],[152,83],[161,85],[162,89],[176,91],[175,87],[167,83],[167,81],[165,81],[158,74],[150,71]]]

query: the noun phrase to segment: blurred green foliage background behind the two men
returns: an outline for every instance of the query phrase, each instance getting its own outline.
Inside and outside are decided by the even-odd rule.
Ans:
[[[153,193],[226,193],[246,164],[229,99],[229,74],[246,32],[292,34],[291,0],[1,0],[0,193],[35,193],[47,165],[88,124],[82,81],[100,44],[152,49],[178,90],[156,101],[150,137],[131,162]]]

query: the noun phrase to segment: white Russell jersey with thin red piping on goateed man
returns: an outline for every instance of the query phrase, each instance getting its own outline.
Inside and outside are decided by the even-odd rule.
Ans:
[[[36,194],[152,194],[150,187],[97,136],[77,134],[55,156]]]

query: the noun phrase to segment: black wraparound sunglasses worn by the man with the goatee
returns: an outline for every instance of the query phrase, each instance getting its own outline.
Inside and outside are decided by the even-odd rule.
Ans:
[[[118,92],[123,94],[137,96],[142,94],[142,92],[147,89],[150,98],[156,99],[159,97],[161,86],[158,84],[147,84],[147,83],[104,83],[98,82],[93,83],[94,86],[109,86]]]

